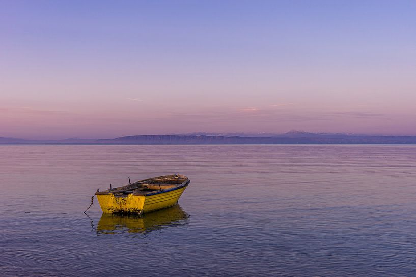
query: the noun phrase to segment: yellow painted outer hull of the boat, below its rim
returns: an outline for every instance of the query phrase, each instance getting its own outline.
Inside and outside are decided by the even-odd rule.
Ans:
[[[149,195],[129,194],[127,197],[116,197],[113,194],[97,194],[97,199],[104,213],[142,214],[175,205],[186,187],[187,184],[169,191]]]

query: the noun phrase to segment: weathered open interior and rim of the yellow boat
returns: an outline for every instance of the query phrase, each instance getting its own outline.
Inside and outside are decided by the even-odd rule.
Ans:
[[[146,195],[158,191],[169,190],[187,182],[189,182],[187,177],[174,174],[137,181],[126,186],[97,192],[97,194],[113,194],[116,197],[127,197],[129,194]]]

